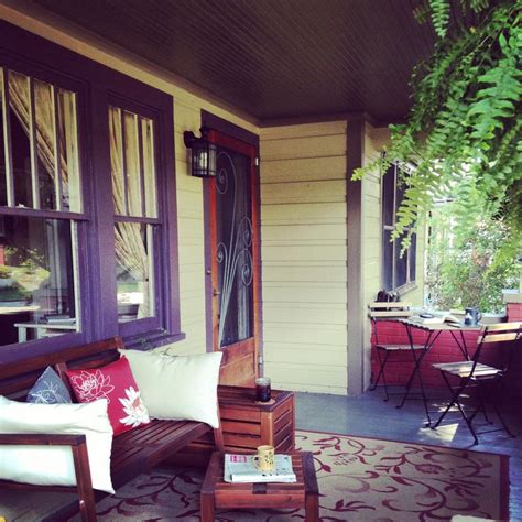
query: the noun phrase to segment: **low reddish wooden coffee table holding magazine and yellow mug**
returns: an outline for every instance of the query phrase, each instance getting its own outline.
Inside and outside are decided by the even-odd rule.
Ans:
[[[319,489],[309,452],[286,452],[297,482],[229,483],[224,480],[222,453],[210,458],[202,487],[202,521],[214,521],[215,509],[275,508],[305,509],[306,522],[319,520]]]

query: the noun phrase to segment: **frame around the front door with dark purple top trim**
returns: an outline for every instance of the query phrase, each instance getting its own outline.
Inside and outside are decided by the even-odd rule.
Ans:
[[[241,127],[230,123],[210,112],[202,110],[202,124],[216,131],[210,132],[210,140],[222,146],[233,148],[238,152],[251,157],[251,195],[252,195],[252,258],[253,258],[253,337],[255,339],[255,374],[260,373],[260,361],[262,361],[262,290],[261,290],[261,222],[260,222],[260,175],[259,165],[259,135]],[[222,137],[226,134],[226,137]],[[213,139],[214,138],[214,139]],[[258,162],[259,163],[259,162]],[[206,349],[214,351],[215,331],[213,318],[213,240],[211,237],[211,191],[210,183],[214,180],[204,181],[204,226],[205,226],[205,311],[206,311]],[[226,361],[224,361],[226,362]]]

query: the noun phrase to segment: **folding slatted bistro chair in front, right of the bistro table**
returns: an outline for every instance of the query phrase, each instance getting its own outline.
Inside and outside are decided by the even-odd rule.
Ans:
[[[435,429],[442,423],[452,406],[457,405],[468,429],[474,436],[475,444],[478,444],[477,435],[501,431],[502,428],[505,429],[508,435],[514,437],[500,414],[498,402],[499,398],[502,395],[500,393],[500,385],[503,383],[503,379],[508,374],[510,363],[513,359],[514,348],[516,345],[522,342],[522,323],[499,323],[496,325],[483,326],[477,342],[477,350],[471,360],[433,365],[434,368],[441,370],[441,373],[452,393],[452,399],[432,428]],[[504,350],[502,354],[502,363],[499,365],[499,368],[480,362],[482,348],[493,342],[498,345],[499,349]],[[455,382],[452,384],[452,377],[459,379],[458,384],[455,384]],[[488,396],[491,398],[491,404],[502,424],[502,428],[499,427],[496,429],[488,429],[487,432],[476,432],[472,422],[480,411],[483,413],[486,422],[492,424],[488,418],[483,400],[483,387],[486,384],[497,388],[497,390],[490,390],[491,393],[488,393]],[[469,389],[474,388],[477,389],[478,404],[475,409],[471,409],[470,413],[468,410],[468,414],[466,414],[460,398],[465,392],[467,393]]]

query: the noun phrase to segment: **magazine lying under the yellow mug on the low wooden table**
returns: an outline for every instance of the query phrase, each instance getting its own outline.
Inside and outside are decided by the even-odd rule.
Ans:
[[[273,471],[263,471],[255,466],[254,455],[225,454],[226,482],[296,482],[290,455],[275,455]]]

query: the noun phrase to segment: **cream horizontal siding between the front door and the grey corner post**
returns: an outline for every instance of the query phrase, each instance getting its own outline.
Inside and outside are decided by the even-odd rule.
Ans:
[[[346,394],[346,122],[260,134],[264,372]]]

